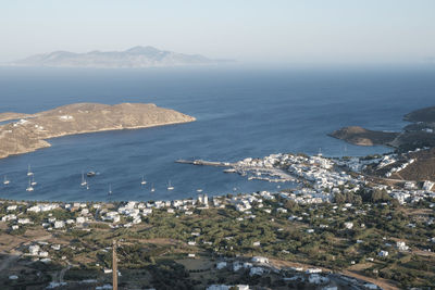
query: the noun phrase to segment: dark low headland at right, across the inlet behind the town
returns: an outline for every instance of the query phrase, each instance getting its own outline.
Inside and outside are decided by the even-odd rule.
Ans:
[[[387,146],[399,150],[435,147],[435,106],[413,111],[403,116],[407,125],[402,131],[376,131],[359,126],[344,127],[330,136],[357,146]]]

